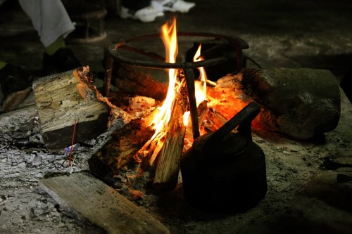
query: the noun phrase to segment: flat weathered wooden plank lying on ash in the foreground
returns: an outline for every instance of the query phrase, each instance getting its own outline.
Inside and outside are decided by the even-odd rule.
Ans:
[[[170,233],[161,222],[88,173],[43,178],[39,185],[64,209],[106,233]]]

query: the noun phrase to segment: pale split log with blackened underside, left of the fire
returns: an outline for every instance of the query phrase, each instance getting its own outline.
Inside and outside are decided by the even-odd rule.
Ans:
[[[62,150],[75,142],[87,141],[106,131],[111,112],[90,84],[89,67],[80,67],[34,80],[32,88],[46,148]],[[116,115],[122,110],[114,110]],[[118,117],[118,116],[116,116]]]

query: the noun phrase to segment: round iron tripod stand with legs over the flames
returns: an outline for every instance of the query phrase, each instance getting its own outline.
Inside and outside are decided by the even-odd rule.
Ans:
[[[177,37],[198,37],[211,38],[216,43],[210,44],[206,51],[202,51],[199,57],[206,58],[219,53],[224,48],[230,48],[236,52],[236,63],[233,65],[234,70],[241,70],[244,67],[242,50],[249,48],[243,39],[238,37],[226,37],[220,34],[211,34],[203,32],[177,32]],[[194,91],[194,71],[198,67],[214,67],[227,63],[229,58],[220,56],[217,58],[208,58],[196,62],[166,63],[163,56],[158,53],[146,51],[143,48],[137,48],[132,45],[134,41],[145,41],[146,39],[160,39],[161,34],[146,34],[131,39],[118,39],[108,46],[109,57],[106,61],[106,79],[104,82],[104,94],[109,95],[111,89],[111,75],[114,62],[133,65],[137,67],[148,67],[154,69],[182,69],[187,81],[187,90],[189,98],[189,108],[191,112],[191,123],[194,138],[199,136],[199,124],[196,114],[196,97]],[[135,58],[138,55],[139,58]]]

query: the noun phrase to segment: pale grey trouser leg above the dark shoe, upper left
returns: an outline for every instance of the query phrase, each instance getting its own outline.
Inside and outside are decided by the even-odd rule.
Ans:
[[[0,0],[0,5],[6,0]],[[23,11],[30,17],[44,47],[58,37],[68,36],[75,26],[61,0],[18,0]]]

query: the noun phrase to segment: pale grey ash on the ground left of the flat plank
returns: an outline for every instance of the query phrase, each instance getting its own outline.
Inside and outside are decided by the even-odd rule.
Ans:
[[[61,209],[39,188],[38,181],[87,171],[90,155],[107,141],[115,127],[87,142],[87,146],[80,145],[68,167],[64,149],[46,150],[34,105],[0,115],[0,233],[99,233]]]

